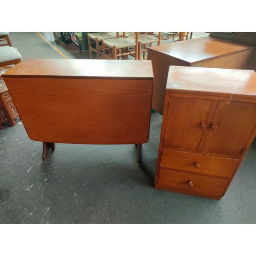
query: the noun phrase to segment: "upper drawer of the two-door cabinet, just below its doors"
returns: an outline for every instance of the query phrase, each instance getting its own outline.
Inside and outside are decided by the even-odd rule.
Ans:
[[[230,178],[237,163],[238,159],[163,149],[160,168]]]

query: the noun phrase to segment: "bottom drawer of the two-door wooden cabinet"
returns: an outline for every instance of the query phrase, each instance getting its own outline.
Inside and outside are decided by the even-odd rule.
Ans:
[[[220,199],[227,182],[227,179],[160,169],[158,183],[155,187],[189,195]]]

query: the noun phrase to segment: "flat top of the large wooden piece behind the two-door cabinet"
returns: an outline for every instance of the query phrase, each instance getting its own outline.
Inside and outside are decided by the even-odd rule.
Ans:
[[[195,39],[184,40],[148,48],[163,54],[182,59],[189,63],[206,60],[233,52],[251,49],[253,46],[241,44],[239,42],[205,36]]]

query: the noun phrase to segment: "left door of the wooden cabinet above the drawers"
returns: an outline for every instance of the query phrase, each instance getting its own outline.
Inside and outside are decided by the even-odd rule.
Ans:
[[[164,146],[197,150],[212,100],[170,97]]]

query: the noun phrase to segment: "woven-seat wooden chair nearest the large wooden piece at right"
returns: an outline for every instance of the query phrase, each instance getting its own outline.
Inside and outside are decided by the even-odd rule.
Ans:
[[[128,38],[134,39],[136,44],[138,44],[138,59],[141,59],[141,53],[143,53],[142,59],[146,59],[147,45],[151,47],[154,42],[157,42],[158,46],[161,44],[162,32],[157,32],[157,36],[153,36],[153,33],[154,32],[135,32],[135,35],[128,36]],[[143,49],[141,49],[142,46]]]

